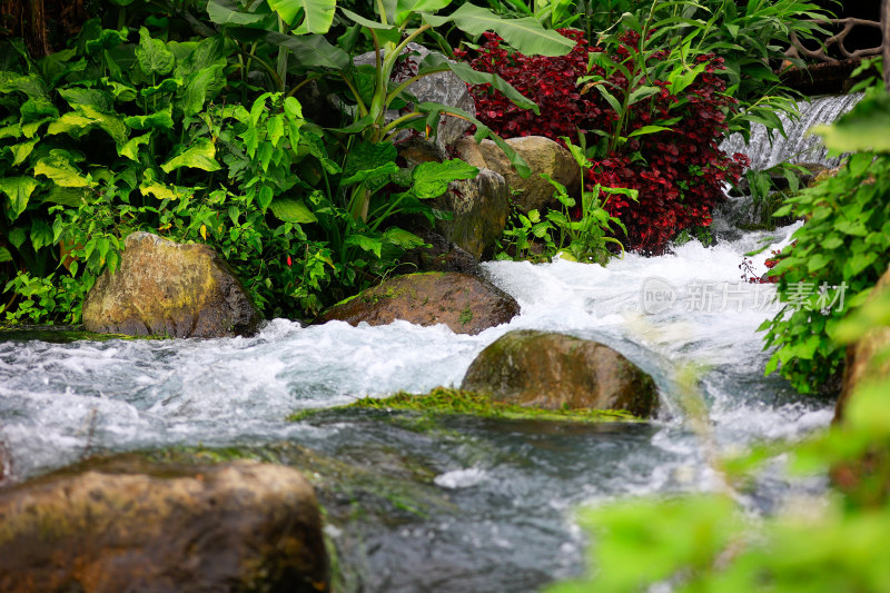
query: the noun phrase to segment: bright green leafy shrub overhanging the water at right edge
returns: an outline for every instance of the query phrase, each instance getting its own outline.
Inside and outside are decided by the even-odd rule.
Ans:
[[[869,127],[890,134],[881,117],[890,109],[883,89],[872,88],[850,113],[823,130],[827,145],[843,150],[846,130]],[[785,304],[765,322],[767,346],[774,354],[767,373],[779,372],[801,393],[812,393],[843,364],[843,348],[832,339],[838,324],[861,305],[890,264],[890,154],[862,151],[850,157],[837,176],[788,200],[775,216],[805,218],[770,273]],[[843,304],[825,300],[820,287],[843,286]]]

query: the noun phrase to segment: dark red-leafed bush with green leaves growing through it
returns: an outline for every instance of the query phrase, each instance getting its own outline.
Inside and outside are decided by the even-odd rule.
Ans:
[[[594,161],[587,184],[640,191],[639,202],[613,196],[605,206],[627,227],[622,240],[630,249],[660,254],[681,230],[710,225],[724,184],[738,181],[748,165],[744,155],[718,147],[735,105],[716,75],[723,59],[678,60],[673,50],[647,50],[632,31],[607,48],[591,47],[577,30],[560,32],[576,45],[555,58],[508,52],[486,33],[469,63],[500,75],[541,115],[478,85],[471,87],[478,119],[504,137],[586,137]]]

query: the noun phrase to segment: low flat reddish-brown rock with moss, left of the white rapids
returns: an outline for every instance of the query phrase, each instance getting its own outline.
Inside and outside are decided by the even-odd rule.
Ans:
[[[387,325],[404,319],[445,324],[456,334],[478,334],[518,313],[516,300],[488,281],[468,274],[427,273],[398,276],[368,288],[326,310],[319,322]]]

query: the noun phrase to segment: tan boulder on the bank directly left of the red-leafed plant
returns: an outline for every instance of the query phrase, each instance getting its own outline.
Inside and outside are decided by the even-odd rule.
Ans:
[[[513,202],[523,213],[542,208],[560,208],[553,197],[553,185],[540,174],[550,175],[554,181],[564,185],[570,196],[578,195],[581,188],[581,170],[572,155],[550,138],[543,136],[523,136],[510,138],[506,144],[515,150],[528,167],[532,175],[525,179],[513,169],[506,155],[492,140],[483,140],[478,145],[473,138],[463,138],[455,148],[461,158],[474,167],[487,167],[506,179],[514,195]]]

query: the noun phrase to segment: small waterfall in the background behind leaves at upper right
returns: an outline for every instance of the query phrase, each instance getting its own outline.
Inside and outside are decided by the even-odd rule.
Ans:
[[[800,101],[800,119],[790,121],[788,117],[780,116],[787,138],[775,135],[771,142],[765,126],[754,123],[751,126],[751,141],[748,145],[741,134],[734,134],[720,148],[729,155],[744,152],[751,158],[751,168],[754,170],[769,169],[784,161],[820,162],[827,167],[837,167],[840,158],[829,158],[821,138],[808,135],[807,131],[817,123],[831,123],[852,109],[860,99],[862,93],[831,95]]]

